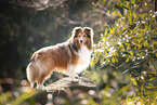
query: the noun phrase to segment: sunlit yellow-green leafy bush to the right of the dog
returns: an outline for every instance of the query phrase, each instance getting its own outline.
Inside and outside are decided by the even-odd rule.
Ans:
[[[117,93],[110,94],[110,101],[104,94],[104,103],[157,104],[157,91],[154,87],[157,83],[153,82],[157,79],[155,18],[157,13],[152,10],[153,2],[100,0],[99,4],[100,2],[108,8],[107,12],[110,15],[116,15],[118,18],[114,25],[105,27],[101,40],[94,47],[92,64],[100,63],[105,70],[114,67],[113,71],[129,73],[131,77],[129,86],[132,86],[130,90],[133,88],[135,91],[132,95],[125,94],[125,99],[120,97],[120,94],[115,97]],[[143,11],[140,11],[141,9]],[[115,99],[120,99],[121,102],[114,102]]]

